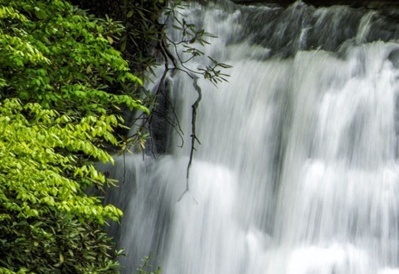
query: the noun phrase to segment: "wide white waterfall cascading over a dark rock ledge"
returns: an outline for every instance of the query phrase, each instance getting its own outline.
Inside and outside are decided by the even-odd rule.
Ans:
[[[301,1],[184,13],[219,37],[203,51],[231,77],[199,81],[180,201],[197,97],[184,73],[168,79],[183,148],[171,129],[164,155],[110,170],[124,273],[153,252],[164,274],[399,274],[399,25]]]

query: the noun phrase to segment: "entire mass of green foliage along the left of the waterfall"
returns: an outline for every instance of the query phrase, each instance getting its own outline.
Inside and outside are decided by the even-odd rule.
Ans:
[[[64,0],[0,0],[0,273],[115,273],[101,229],[122,107],[141,80],[111,44],[123,29]],[[139,145],[142,145],[139,141]]]

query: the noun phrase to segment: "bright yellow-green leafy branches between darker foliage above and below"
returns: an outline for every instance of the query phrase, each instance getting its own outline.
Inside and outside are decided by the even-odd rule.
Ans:
[[[25,114],[22,114],[25,113]],[[103,174],[92,164],[78,163],[77,152],[103,162],[112,157],[94,145],[96,139],[116,142],[115,116],[89,116],[76,125],[67,115],[45,110],[37,103],[16,100],[0,104],[0,204],[18,218],[45,216],[52,211],[83,220],[118,220],[122,212],[99,198],[84,194]],[[9,218],[5,213],[1,218]]]

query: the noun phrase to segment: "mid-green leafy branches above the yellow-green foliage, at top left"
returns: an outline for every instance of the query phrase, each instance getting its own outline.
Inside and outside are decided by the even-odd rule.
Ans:
[[[111,30],[62,0],[0,0],[0,96],[81,116],[117,105],[148,110],[131,96],[142,82],[110,46]]]

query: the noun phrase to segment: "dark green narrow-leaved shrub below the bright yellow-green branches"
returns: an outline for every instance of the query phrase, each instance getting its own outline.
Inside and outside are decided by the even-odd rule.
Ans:
[[[54,213],[1,221],[0,273],[110,273],[118,267],[110,239],[91,222]]]

